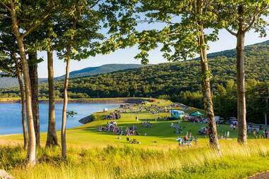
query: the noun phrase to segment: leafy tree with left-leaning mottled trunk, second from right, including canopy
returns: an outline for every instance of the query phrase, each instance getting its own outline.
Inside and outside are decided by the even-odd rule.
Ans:
[[[132,12],[124,19],[128,23],[119,23],[120,36],[116,41],[121,47],[133,46],[138,43],[142,63],[148,63],[148,51],[162,44],[161,51],[169,61],[182,61],[193,58],[198,54],[201,63],[201,79],[205,113],[208,117],[210,146],[220,152],[217,139],[217,127],[213,111],[213,102],[210,90],[211,73],[208,68],[207,49],[208,41],[217,39],[217,27],[213,25],[216,16],[213,16],[213,1],[149,1],[141,0],[131,6],[133,1],[126,3]],[[135,18],[133,18],[135,17]],[[138,20],[136,20],[138,17]],[[160,30],[134,29],[138,23],[162,23]],[[213,32],[205,34],[204,29],[213,28]],[[123,32],[121,32],[123,31]],[[116,33],[116,36],[119,34]]]

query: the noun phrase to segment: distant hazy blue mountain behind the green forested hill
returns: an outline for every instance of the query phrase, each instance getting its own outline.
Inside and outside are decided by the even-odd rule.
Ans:
[[[143,65],[141,64],[107,64],[103,66],[97,67],[88,67],[83,68],[82,70],[75,70],[70,73],[70,78],[78,78],[78,77],[88,77],[90,75],[98,75],[103,73],[111,73],[118,70],[126,70],[132,68],[141,68]],[[64,75],[55,78],[56,80],[64,79]],[[40,82],[46,82],[46,78],[40,78]],[[16,87],[18,85],[18,80],[16,78],[0,78],[0,88],[5,87]]]

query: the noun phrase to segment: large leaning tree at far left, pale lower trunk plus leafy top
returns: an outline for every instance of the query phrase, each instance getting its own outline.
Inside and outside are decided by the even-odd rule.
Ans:
[[[25,44],[23,39],[35,30],[40,23],[49,17],[49,10],[46,8],[40,8],[40,1],[35,2],[36,4],[27,4],[29,1],[1,1],[1,6],[6,8],[6,11],[10,13],[12,21],[13,32],[18,43],[18,49],[20,51],[20,60],[23,66],[23,78],[25,84],[25,104],[28,122],[28,150],[27,150],[27,166],[34,166],[36,163],[36,139],[35,139],[35,128],[32,116],[32,94],[30,85],[30,75],[28,61],[26,59]],[[46,4],[47,5],[47,4]],[[32,6],[35,6],[32,8]],[[20,13],[33,13],[35,18],[25,22],[25,20],[18,21]],[[22,31],[23,30],[23,31]]]

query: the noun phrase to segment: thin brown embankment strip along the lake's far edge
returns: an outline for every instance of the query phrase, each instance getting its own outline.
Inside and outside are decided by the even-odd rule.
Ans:
[[[48,103],[49,99],[40,99],[40,103]],[[63,99],[55,99],[56,103],[62,103]],[[89,99],[68,99],[68,103],[140,103],[142,101],[155,101],[153,98],[143,98],[143,97],[116,97],[116,98],[89,98]],[[4,99],[1,100],[0,104],[13,104],[13,103],[20,103],[20,99]]]

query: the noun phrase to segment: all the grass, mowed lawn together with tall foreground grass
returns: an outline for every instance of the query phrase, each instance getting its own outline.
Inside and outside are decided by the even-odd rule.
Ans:
[[[159,103],[160,102],[160,103]],[[157,101],[167,106],[170,101]],[[188,109],[188,113],[197,109]],[[109,113],[109,111],[107,112]],[[152,114],[123,113],[118,125],[125,128],[136,124],[141,135],[133,136],[141,144],[129,144],[126,136],[97,132],[99,125],[107,120],[107,114],[95,113],[96,120],[78,128],[67,130],[68,158],[61,160],[59,148],[44,149],[46,134],[42,133],[42,148],[38,149],[38,164],[25,170],[25,151],[22,135],[0,137],[0,168],[6,169],[16,178],[245,178],[254,173],[269,170],[269,140],[253,139],[249,136],[246,146],[237,144],[237,132],[228,125],[219,125],[218,131],[230,131],[231,140],[220,140],[222,157],[208,147],[208,139],[199,136],[198,145],[178,147],[177,135],[169,128],[176,121],[155,118],[169,113]],[[140,122],[150,119],[153,128],[145,128]],[[197,135],[204,124],[181,123],[185,135],[191,130]],[[147,133],[147,136],[143,135]],[[60,139],[60,138],[59,138]]]

